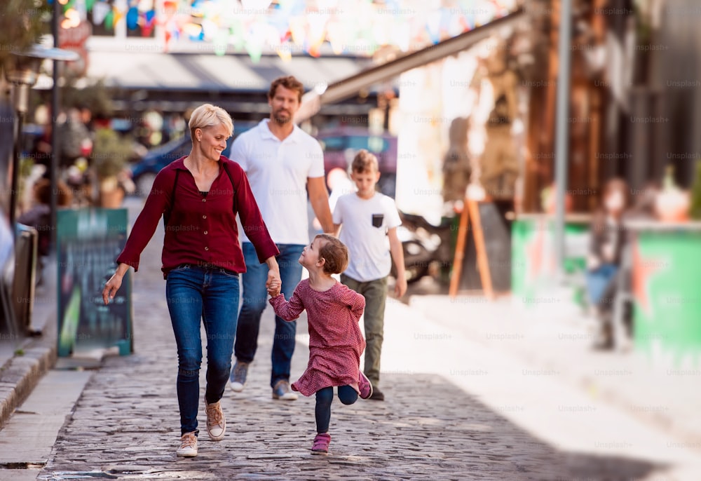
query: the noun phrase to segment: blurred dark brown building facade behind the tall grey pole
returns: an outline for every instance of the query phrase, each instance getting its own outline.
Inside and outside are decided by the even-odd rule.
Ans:
[[[665,168],[690,187],[701,119],[699,34],[693,0],[575,1],[571,43],[569,177],[572,209],[590,211],[611,177],[632,194],[661,182]],[[552,182],[559,1],[531,1],[533,69],[529,86],[524,203],[539,209]]]

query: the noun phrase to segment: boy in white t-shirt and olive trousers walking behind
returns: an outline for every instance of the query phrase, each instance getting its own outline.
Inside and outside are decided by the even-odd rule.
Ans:
[[[394,259],[395,294],[407,292],[404,252],[397,238],[402,221],[392,198],[375,191],[380,178],[377,158],[362,149],[353,159],[351,179],[358,191],[339,197],[334,208],[336,236],[348,246],[350,263],[341,282],[365,297],[365,376],[373,386],[370,399],[384,400],[379,389],[387,276]],[[341,230],[341,224],[343,229]],[[389,238],[389,249],[387,248]],[[391,253],[391,256],[390,256]]]

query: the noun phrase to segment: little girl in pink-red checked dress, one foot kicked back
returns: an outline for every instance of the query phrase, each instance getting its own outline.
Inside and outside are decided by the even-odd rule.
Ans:
[[[332,278],[348,266],[348,248],[338,238],[319,234],[304,248],[299,263],[309,278],[295,288],[290,301],[280,294],[280,283],[268,287],[275,314],[285,320],[297,319],[306,309],[309,325],[309,363],[292,389],[303,395],[316,393],[316,431],[313,454],[329,452],[329,422],[334,386],[343,404],[353,404],[372,395],[372,384],[360,371],[365,349],[358,320],[365,309],[365,297]]]

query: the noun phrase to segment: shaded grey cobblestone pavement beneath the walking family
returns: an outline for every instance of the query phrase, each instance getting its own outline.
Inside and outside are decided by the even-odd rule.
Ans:
[[[271,398],[271,309],[264,313],[259,352],[245,391],[227,388],[224,394],[226,437],[208,440],[200,403],[199,455],[177,458],[177,356],[159,269],[159,229],[133,276],[135,353],[106,358],[93,373],[37,479],[673,479],[653,477],[660,466],[647,461],[555,449],[445,377],[401,370],[383,375],[386,402],[358,400],[343,406],[336,400],[331,454],[313,456],[313,398]],[[302,317],[299,337],[305,333]],[[298,343],[293,380],[303,372],[307,357],[305,344]],[[200,374],[204,393],[204,369]]]

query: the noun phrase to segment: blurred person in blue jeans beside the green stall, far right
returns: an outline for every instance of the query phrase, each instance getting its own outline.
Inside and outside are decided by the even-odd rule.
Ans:
[[[621,254],[627,241],[623,224],[629,190],[625,180],[606,182],[602,204],[594,213],[587,255],[587,292],[599,321],[594,347],[613,348],[613,303],[621,265]]]

